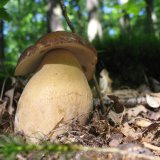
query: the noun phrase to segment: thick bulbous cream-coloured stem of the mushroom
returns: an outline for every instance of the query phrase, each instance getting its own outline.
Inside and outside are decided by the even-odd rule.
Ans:
[[[92,109],[92,93],[74,55],[50,51],[27,83],[15,116],[15,131],[32,142],[68,129],[73,119],[84,124]],[[55,130],[55,131],[53,131]]]

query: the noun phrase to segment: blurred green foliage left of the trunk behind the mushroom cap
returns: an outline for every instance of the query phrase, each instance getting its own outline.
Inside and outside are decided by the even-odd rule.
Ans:
[[[10,0],[6,8],[12,21],[6,22],[5,28],[5,65],[16,65],[21,52],[44,35],[47,31],[46,3]]]

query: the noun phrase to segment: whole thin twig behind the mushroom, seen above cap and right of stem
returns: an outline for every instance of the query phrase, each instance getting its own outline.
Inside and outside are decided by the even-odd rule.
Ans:
[[[64,1],[63,0],[59,0],[59,2],[60,2],[60,6],[61,6],[61,9],[62,9],[63,16],[64,16],[64,18],[65,18],[70,30],[73,33],[75,33],[75,28],[72,25],[71,20],[69,19],[68,15],[67,15],[67,10],[66,10],[66,6],[64,5]],[[93,81],[94,81],[94,84],[95,84],[95,87],[96,87],[97,95],[98,95],[99,100],[100,100],[101,112],[103,114],[105,112],[105,105],[103,103],[102,94],[100,92],[100,88],[99,88],[99,85],[98,85],[97,78],[96,78],[95,74],[93,76]]]

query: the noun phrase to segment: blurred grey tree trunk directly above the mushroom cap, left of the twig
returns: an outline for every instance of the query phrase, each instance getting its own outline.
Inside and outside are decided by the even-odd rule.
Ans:
[[[62,11],[58,0],[48,0],[48,32],[64,30],[62,25]]]

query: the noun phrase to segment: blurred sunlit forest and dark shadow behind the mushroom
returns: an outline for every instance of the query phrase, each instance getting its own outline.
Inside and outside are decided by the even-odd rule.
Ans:
[[[5,1],[5,3],[3,3]],[[98,52],[114,86],[160,81],[159,0],[64,0],[76,32]],[[59,0],[0,1],[0,76],[13,75],[21,52],[47,32],[67,30]]]

